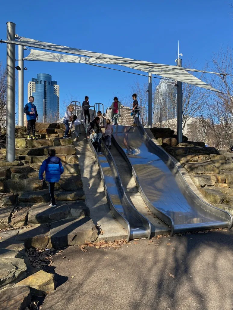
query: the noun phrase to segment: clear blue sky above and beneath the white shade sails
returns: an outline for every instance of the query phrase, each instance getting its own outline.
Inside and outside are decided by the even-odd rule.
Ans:
[[[6,22],[12,21],[20,36],[172,65],[180,40],[183,63],[192,60],[196,68],[202,69],[220,46],[232,47],[233,9],[230,2],[4,1],[1,3],[0,38],[6,38]],[[0,60],[5,65],[5,44],[0,45]],[[27,83],[37,73],[49,73],[57,81],[61,105],[70,95],[80,101],[88,95],[90,104],[102,102],[107,107],[115,95],[119,100],[121,95],[131,99],[130,85],[135,81],[147,82],[146,77],[86,64],[28,61],[25,66],[28,68],[25,71],[25,102]]]

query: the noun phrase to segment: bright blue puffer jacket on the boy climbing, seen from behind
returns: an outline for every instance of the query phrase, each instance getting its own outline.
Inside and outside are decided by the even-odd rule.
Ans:
[[[39,179],[43,180],[43,173],[45,171],[45,179],[48,182],[58,182],[61,178],[61,174],[64,172],[62,167],[61,158],[56,156],[50,156],[45,159],[40,166]]]

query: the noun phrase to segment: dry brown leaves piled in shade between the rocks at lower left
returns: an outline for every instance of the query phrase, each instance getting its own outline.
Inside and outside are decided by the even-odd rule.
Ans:
[[[47,266],[51,266],[53,263],[53,249],[51,250],[37,250],[37,249],[26,249],[28,258],[31,265],[34,268],[43,269]]]

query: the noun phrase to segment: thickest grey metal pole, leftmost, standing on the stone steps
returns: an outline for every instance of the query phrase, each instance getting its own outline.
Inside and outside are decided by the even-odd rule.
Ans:
[[[7,22],[7,40],[15,40],[16,24]],[[7,44],[7,157],[15,160],[15,44]]]

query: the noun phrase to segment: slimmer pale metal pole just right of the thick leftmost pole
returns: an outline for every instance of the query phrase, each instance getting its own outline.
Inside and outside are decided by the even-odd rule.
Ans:
[[[20,66],[21,70],[18,71],[18,93],[19,93],[19,99],[18,99],[18,113],[19,113],[19,125],[24,125],[24,61],[22,60],[24,58],[24,47],[22,45],[18,45],[18,65]]]

